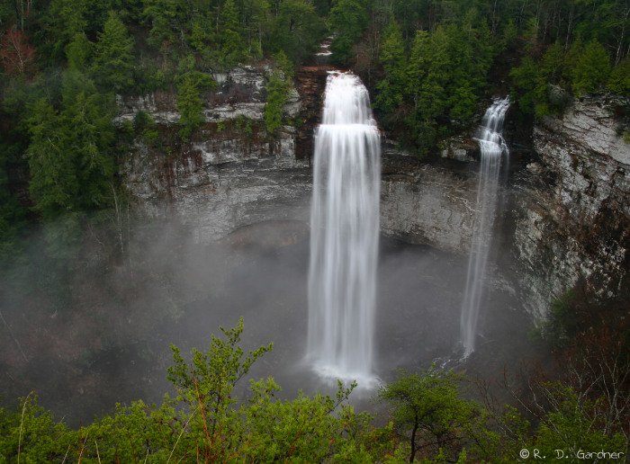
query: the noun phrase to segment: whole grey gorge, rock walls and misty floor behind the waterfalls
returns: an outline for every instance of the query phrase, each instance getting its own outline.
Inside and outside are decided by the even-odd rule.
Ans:
[[[312,228],[308,153],[320,122],[327,71],[311,67],[297,76],[303,85],[291,90],[284,114],[310,121],[299,129],[284,126],[273,137],[266,134],[262,121],[269,70],[263,65],[216,76],[220,86],[204,101],[206,121],[190,144],[166,152],[159,144],[134,139],[121,174],[134,209],[144,219],[139,225],[130,223],[130,234],[123,230],[130,262],[99,278],[96,287],[84,272],[85,279],[75,279],[70,297],[75,304],[98,301],[94,316],[111,322],[45,318],[61,327],[56,329],[60,333],[75,334],[67,335],[63,345],[41,326],[32,331],[39,340],[15,330],[19,340],[31,340],[31,348],[25,349],[29,362],[14,361],[8,371],[25,380],[7,380],[4,390],[15,395],[23,391],[34,375],[23,372],[49,372],[55,378],[42,366],[69,364],[69,371],[52,368],[58,369],[58,392],[42,393],[41,398],[59,414],[74,417],[70,420],[101,413],[121,395],[157,399],[157,392],[166,388],[166,344],[202,345],[213,327],[233,324],[239,315],[253,327],[251,343],[275,341],[269,362],[280,371],[277,377],[288,394],[303,388],[305,379],[313,390],[326,389],[301,362],[308,334]],[[120,124],[147,112],[165,139],[178,118],[168,94],[121,97],[119,104]],[[482,311],[469,367],[498,371],[527,352],[524,327],[543,320],[550,301],[582,277],[604,292],[602,297],[623,287],[628,268],[628,146],[616,129],[616,108],[622,104],[599,97],[578,100],[562,118],[536,124],[529,148],[510,150],[509,172],[496,187],[503,214],[495,223],[484,280],[492,304]],[[248,135],[242,130],[246,126],[251,128]],[[508,143],[518,139],[514,127],[508,113]],[[447,142],[443,157],[430,162],[383,140],[372,373],[384,379],[393,366],[415,369],[436,360],[456,361],[479,183],[478,148],[472,135],[467,139]],[[452,159],[455,155],[460,159]],[[604,222],[617,226],[585,233]],[[103,259],[96,241],[91,249],[92,255],[85,257],[88,271],[90,263]],[[164,249],[166,254],[158,251]],[[140,267],[150,270],[150,279]],[[148,285],[157,276],[160,285]],[[142,286],[139,295],[132,282]],[[123,303],[110,298],[111,289],[126,295]],[[121,304],[128,309],[118,316]],[[152,319],[143,316],[147,304],[155,310]],[[277,317],[270,320],[270,314]],[[138,326],[145,330],[138,331]],[[85,344],[78,334],[92,342]],[[16,345],[10,338],[5,343],[5,352],[19,360]],[[49,352],[61,353],[57,359],[34,354],[44,343],[55,346]],[[83,358],[66,348],[74,345],[85,346]],[[494,358],[495,352],[502,354]],[[111,393],[100,391],[103,381],[118,382],[118,387]],[[77,397],[82,398],[78,409]]]

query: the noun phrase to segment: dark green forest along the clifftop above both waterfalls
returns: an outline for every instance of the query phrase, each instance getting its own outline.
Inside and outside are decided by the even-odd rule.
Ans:
[[[271,58],[273,134],[294,67],[329,34],[334,63],[365,77],[384,128],[419,156],[469,127],[489,92],[530,116],[630,93],[626,0],[4,0],[0,28],[3,254],[24,221],[113,206],[121,145],[151,137],[146,115],[113,126],[115,94],[175,92],[185,142],[212,71]]]

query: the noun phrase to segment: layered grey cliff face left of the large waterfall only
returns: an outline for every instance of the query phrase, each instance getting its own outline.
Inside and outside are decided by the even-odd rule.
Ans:
[[[214,76],[205,95],[206,123],[191,143],[178,144],[171,127],[179,114],[169,94],[120,99],[119,120],[148,112],[169,144],[140,138],[127,156],[124,175],[139,207],[150,216],[179,219],[208,242],[269,220],[308,219],[311,173],[296,160],[295,130],[265,131],[266,67],[238,67]],[[300,112],[292,90],[285,115]]]

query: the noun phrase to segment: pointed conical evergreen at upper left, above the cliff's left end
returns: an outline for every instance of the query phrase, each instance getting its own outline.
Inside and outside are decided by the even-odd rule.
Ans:
[[[110,12],[94,46],[94,79],[121,93],[133,85],[133,39],[117,13]]]

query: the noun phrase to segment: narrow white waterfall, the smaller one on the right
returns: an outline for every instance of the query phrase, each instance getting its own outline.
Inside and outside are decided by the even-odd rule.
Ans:
[[[462,304],[461,333],[464,357],[469,356],[474,351],[477,320],[482,303],[483,280],[497,209],[501,157],[504,153],[509,154],[508,147],[501,136],[503,120],[508,108],[509,97],[495,99],[483,116],[478,138],[482,153],[482,165],[477,187],[477,213],[473,225],[473,242],[468,261],[464,303]]]

